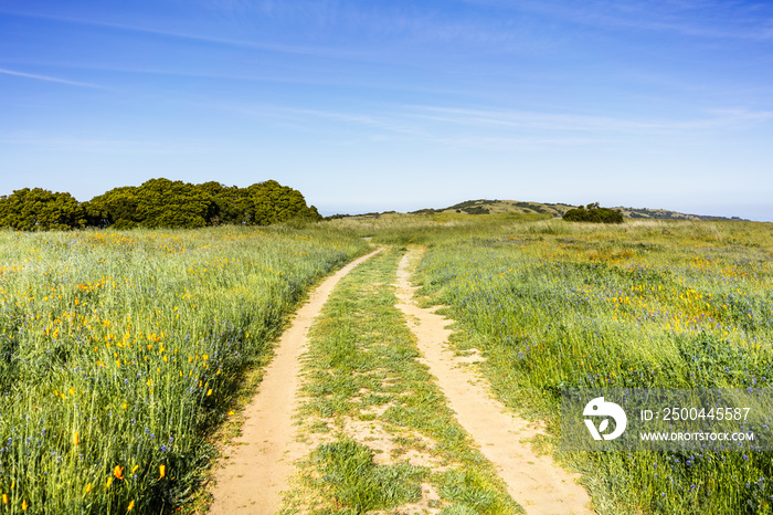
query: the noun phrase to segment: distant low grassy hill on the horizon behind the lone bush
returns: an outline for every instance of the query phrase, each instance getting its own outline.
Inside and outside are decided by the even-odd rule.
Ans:
[[[541,213],[555,218],[563,217],[568,210],[576,208],[568,203],[521,202],[518,200],[467,200],[443,209],[420,209],[413,214],[435,213],[467,213],[467,214],[496,214],[496,213]],[[742,220],[738,217],[712,217],[707,214],[689,214],[667,209],[625,208],[620,209],[625,218],[657,219],[657,220]]]

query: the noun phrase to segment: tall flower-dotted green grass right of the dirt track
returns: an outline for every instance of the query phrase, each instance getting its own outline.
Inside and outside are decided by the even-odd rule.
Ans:
[[[773,382],[770,224],[537,221],[437,234],[424,293],[508,404],[560,430],[566,387]],[[771,513],[763,452],[564,454],[604,513]]]

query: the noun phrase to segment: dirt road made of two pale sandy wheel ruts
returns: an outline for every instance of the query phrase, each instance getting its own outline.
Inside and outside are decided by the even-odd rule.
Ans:
[[[293,416],[297,410],[300,357],[307,347],[311,323],[338,281],[362,261],[360,258],[318,286],[283,334],[276,356],[266,368],[260,391],[245,410],[242,435],[224,452],[224,466],[215,474],[214,502],[210,513],[272,514],[280,507],[280,493],[294,462],[310,449],[297,441]],[[427,365],[459,424],[472,435],[483,454],[494,463],[509,494],[528,514],[591,514],[587,492],[571,474],[547,455],[538,456],[526,441],[540,429],[508,413],[494,398],[488,381],[447,347],[449,320],[417,306],[410,277],[423,250],[412,248],[398,270],[398,307],[407,318]]]

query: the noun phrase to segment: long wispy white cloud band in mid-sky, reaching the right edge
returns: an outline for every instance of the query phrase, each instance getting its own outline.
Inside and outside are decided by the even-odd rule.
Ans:
[[[702,138],[761,127],[773,122],[771,111],[718,109],[702,117],[673,119],[642,119],[632,115],[608,117],[501,109],[472,109],[434,105],[373,106],[363,112],[313,109],[282,106],[229,107],[265,119],[292,119],[299,126],[319,126],[314,118],[329,120],[322,124],[326,134],[357,135],[373,140],[409,138],[451,147],[497,149],[520,147],[549,148],[557,146],[590,146],[611,141],[637,141],[643,137]],[[337,123],[333,128],[331,123]],[[346,126],[351,126],[347,130]],[[364,128],[364,130],[363,130]]]

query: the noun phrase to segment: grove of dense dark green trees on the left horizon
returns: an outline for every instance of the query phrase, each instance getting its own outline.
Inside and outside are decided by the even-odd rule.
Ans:
[[[20,231],[268,225],[292,219],[317,221],[321,217],[299,191],[275,180],[239,188],[214,181],[192,185],[150,179],[140,186],[114,188],[87,202],[42,188],[0,196],[0,228]]]

